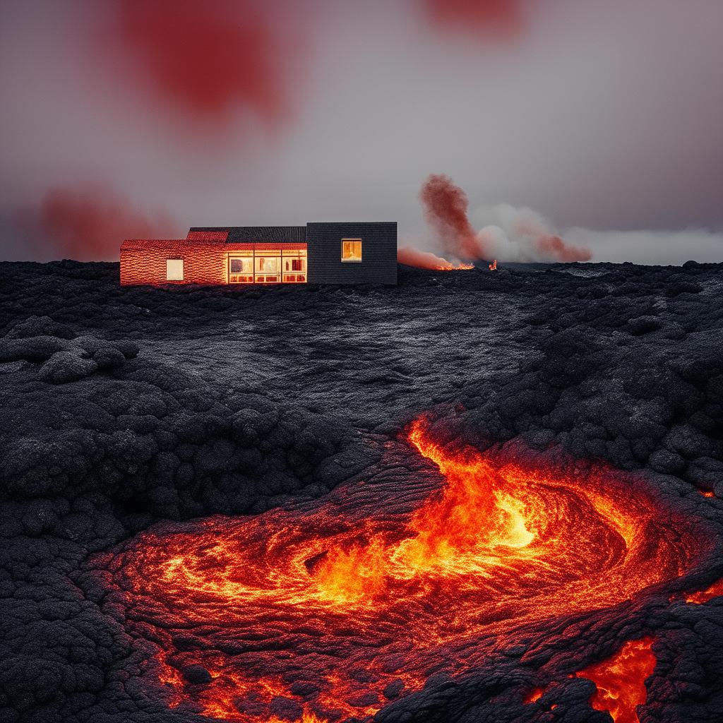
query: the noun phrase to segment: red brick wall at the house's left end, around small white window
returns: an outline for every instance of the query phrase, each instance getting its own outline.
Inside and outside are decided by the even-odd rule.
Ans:
[[[124,241],[121,286],[162,283],[226,283],[226,244],[209,241]],[[184,280],[166,281],[166,259],[184,260]]]

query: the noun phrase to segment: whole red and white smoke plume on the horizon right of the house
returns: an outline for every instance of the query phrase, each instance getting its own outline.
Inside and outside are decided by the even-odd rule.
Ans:
[[[563,241],[541,215],[529,208],[508,204],[480,208],[475,215],[482,223],[476,231],[469,218],[467,194],[444,174],[430,175],[422,184],[419,198],[435,241],[448,258],[544,262],[589,261],[592,258],[590,249]],[[408,252],[405,263],[429,268],[424,257],[419,255],[421,253],[416,252],[414,256]],[[447,264],[448,268],[455,268],[453,263]]]

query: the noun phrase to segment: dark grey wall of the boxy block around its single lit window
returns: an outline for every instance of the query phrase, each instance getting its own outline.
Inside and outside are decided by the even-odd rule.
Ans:
[[[341,260],[341,239],[361,239],[361,262]],[[397,224],[307,223],[309,283],[397,283]]]

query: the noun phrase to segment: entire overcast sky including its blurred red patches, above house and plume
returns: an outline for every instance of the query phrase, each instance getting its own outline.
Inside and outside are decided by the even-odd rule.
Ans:
[[[343,220],[433,249],[443,173],[479,226],[723,260],[722,29],[720,0],[0,0],[0,257]]]

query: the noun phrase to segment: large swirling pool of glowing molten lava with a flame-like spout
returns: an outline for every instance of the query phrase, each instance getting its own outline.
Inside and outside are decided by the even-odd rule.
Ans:
[[[408,441],[442,487],[431,472],[357,483],[323,505],[158,525],[98,558],[129,631],[158,643],[169,705],[244,723],[372,716],[429,675],[479,669],[522,626],[625,602],[708,549],[615,470],[452,450],[425,419]],[[210,682],[187,679],[199,665]]]

